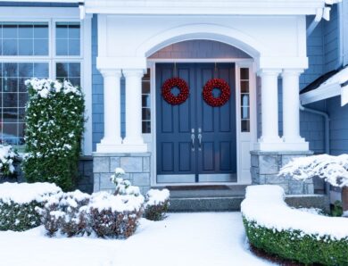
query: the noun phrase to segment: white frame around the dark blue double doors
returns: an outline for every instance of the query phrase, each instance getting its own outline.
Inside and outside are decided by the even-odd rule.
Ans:
[[[157,137],[157,130],[156,130],[156,63],[160,62],[167,62],[167,63],[180,63],[180,62],[230,62],[235,63],[235,71],[236,71],[236,156],[237,156],[237,162],[236,162],[236,182],[202,182],[202,183],[157,183],[157,147],[156,147],[156,137]],[[257,142],[257,105],[256,105],[256,73],[255,73],[255,66],[253,59],[236,59],[236,58],[223,58],[223,59],[147,59],[147,67],[151,71],[150,76],[150,96],[151,96],[151,133],[150,134],[144,134],[145,142],[148,143],[149,146],[149,152],[152,154],[151,156],[151,186],[156,187],[166,187],[166,186],[206,186],[206,185],[250,185],[251,180],[251,174],[249,171],[249,175],[245,176],[245,173],[242,175],[242,160],[240,159],[241,154],[241,145],[240,141],[243,137],[243,134],[240,131],[240,75],[239,70],[240,68],[249,68],[249,77],[250,77],[250,150],[253,149],[253,145]],[[250,160],[249,160],[250,161]],[[248,162],[250,163],[250,162]]]

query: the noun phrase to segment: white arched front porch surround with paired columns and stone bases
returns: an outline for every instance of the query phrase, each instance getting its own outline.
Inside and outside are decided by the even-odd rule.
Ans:
[[[307,7],[306,13],[313,14],[318,8],[321,5]],[[143,192],[150,187],[241,186],[263,182],[283,184],[289,194],[312,194],[314,188],[311,184],[294,184],[290,188],[288,181],[277,177],[283,158],[289,160],[311,154],[309,144],[300,136],[299,78],[308,67],[303,10],[294,9],[292,14],[282,13],[277,18],[266,11],[262,11],[261,16],[249,13],[247,17],[186,14],[185,23],[180,22],[178,13],[173,12],[162,17],[161,24],[156,15],[135,12],[131,14],[132,23],[127,24],[123,14],[110,14],[98,6],[96,63],[104,77],[104,137],[94,154],[95,191],[111,188],[108,184],[110,173],[115,167],[122,167],[128,172],[128,179],[142,187]],[[93,4],[86,4],[86,12],[95,12]],[[197,49],[193,43],[202,46]],[[228,52],[221,54],[221,48],[216,46]],[[236,105],[231,110],[235,112],[236,128],[230,133],[236,136],[236,147],[230,149],[231,157],[236,160],[236,170],[231,170],[232,174],[236,173],[236,180],[200,181],[199,171],[194,173],[193,179],[180,179],[183,175],[178,172],[167,175],[169,179],[159,178],[163,176],[159,169],[157,112],[161,97],[157,70],[161,63],[172,64],[173,68],[184,63],[233,64],[235,79],[230,87],[235,92],[235,98],[231,100]],[[248,71],[248,80],[241,78],[242,69]],[[145,73],[150,82],[146,93]],[[175,71],[171,77],[174,76]],[[282,79],[281,90],[279,78]],[[124,109],[120,97],[123,79],[126,92]],[[241,90],[245,81],[248,82],[246,93]],[[242,102],[244,95],[247,95],[247,106]],[[150,104],[144,105],[144,100]],[[283,112],[278,112],[279,103]],[[150,114],[144,113],[145,109]],[[122,110],[125,112],[124,121]],[[282,118],[280,125],[279,117]],[[246,129],[245,121],[249,123]],[[124,134],[122,122],[125,124]],[[150,132],[144,132],[149,125]],[[198,141],[198,129],[201,128],[202,125],[197,125],[195,129],[192,127],[195,141]],[[189,131],[185,145],[191,142],[191,127]],[[163,155],[161,158],[171,160],[169,150],[166,152],[166,158]],[[190,154],[189,151],[187,153]],[[277,156],[267,153],[276,153]],[[269,172],[262,170],[265,167],[256,166],[256,161],[267,162]],[[233,163],[232,160],[229,162]],[[210,174],[214,177],[220,173]],[[177,180],[172,179],[175,176]]]

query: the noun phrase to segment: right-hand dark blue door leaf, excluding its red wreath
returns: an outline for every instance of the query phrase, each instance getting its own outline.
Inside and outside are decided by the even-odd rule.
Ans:
[[[236,181],[236,85],[234,64],[200,64],[196,68],[197,125],[202,125],[202,151],[198,152],[199,181]],[[203,100],[203,86],[209,79],[228,82],[231,97],[220,107]],[[199,112],[201,111],[201,112]],[[211,161],[211,162],[210,162]],[[209,167],[208,167],[209,166]],[[213,174],[213,175],[212,175]],[[211,176],[212,175],[212,176]],[[213,178],[215,176],[215,178]]]

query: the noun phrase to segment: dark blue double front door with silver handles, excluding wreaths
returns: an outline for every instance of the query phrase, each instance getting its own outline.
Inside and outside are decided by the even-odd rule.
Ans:
[[[162,98],[162,84],[176,76],[186,80],[190,95],[184,104],[171,105]],[[226,80],[231,88],[221,107],[203,101],[203,86],[212,78]],[[236,181],[235,83],[233,63],[156,64],[158,182]]]

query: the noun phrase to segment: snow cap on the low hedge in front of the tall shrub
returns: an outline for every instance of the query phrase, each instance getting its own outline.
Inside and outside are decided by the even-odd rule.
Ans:
[[[45,200],[47,195],[61,193],[62,189],[51,183],[4,183],[0,185],[0,201],[5,204],[29,204]]]

